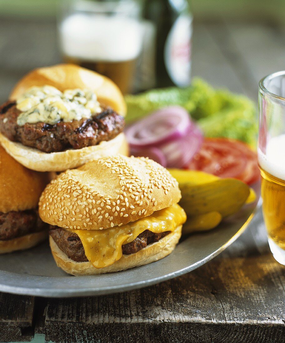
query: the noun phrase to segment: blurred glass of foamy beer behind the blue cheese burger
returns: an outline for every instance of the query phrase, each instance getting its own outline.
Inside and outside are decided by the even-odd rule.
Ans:
[[[135,0],[64,1],[58,31],[65,62],[108,76],[123,93],[133,91],[142,47]]]

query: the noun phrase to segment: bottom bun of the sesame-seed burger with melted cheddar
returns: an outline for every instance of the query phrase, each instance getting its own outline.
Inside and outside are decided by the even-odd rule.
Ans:
[[[75,262],[72,259],[69,259],[68,256],[58,248],[51,236],[50,246],[57,266],[62,268],[68,274],[80,276],[114,273],[138,267],[139,265],[148,264],[169,255],[174,250],[181,237],[181,230],[182,225],[177,226],[173,232],[161,238],[158,242],[152,243],[133,254],[123,255],[115,263],[100,269],[93,267],[90,262]]]

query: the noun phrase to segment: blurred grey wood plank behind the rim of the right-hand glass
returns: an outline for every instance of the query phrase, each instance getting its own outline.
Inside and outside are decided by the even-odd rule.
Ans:
[[[207,24],[245,90],[256,101],[258,82],[284,69],[284,39],[277,28],[260,24]]]

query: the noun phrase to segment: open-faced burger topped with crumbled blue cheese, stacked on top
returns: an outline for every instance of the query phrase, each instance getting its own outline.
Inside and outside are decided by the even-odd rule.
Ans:
[[[31,71],[0,106],[0,143],[37,171],[76,168],[102,156],[128,154],[119,88],[74,64]]]

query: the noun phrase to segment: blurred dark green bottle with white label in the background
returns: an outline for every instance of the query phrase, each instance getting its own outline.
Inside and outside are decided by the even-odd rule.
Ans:
[[[145,46],[153,47],[144,52],[145,57],[154,57],[149,63],[150,78],[155,87],[185,87],[191,81],[192,15],[188,0],[145,0],[143,17],[148,23]],[[152,30],[150,29],[152,25]],[[152,34],[151,34],[152,33]],[[154,43],[147,40],[154,40]],[[144,64],[144,62],[142,61]]]

